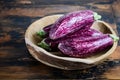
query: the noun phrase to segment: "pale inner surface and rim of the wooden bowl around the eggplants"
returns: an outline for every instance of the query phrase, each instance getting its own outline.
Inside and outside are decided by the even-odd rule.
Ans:
[[[26,31],[25,38],[29,39],[32,44],[37,46],[36,44],[38,42],[40,42],[41,39],[36,35],[36,32],[41,30],[43,27],[54,23],[61,16],[62,16],[61,14],[60,15],[52,15],[52,16],[47,16],[40,20],[37,20],[36,22],[34,22],[33,24],[31,24],[29,26],[29,28]],[[116,35],[115,32],[113,31],[113,29],[107,23],[105,23],[103,21],[94,22],[94,24],[92,25],[92,28],[101,31],[102,33],[110,33],[110,34]],[[54,57],[62,58],[65,60],[70,60],[70,61],[81,62],[81,60],[82,60],[82,62],[84,62],[84,60],[88,60],[88,62],[85,61],[85,63],[91,64],[91,63],[98,62],[98,61],[106,58],[107,56],[109,56],[116,48],[116,45],[117,45],[117,43],[114,43],[110,49],[106,49],[105,51],[102,51],[100,53],[97,53],[96,55],[93,55],[93,56],[87,57],[87,58],[72,58],[72,57],[63,55],[61,52],[48,52],[46,54],[51,54],[51,55],[54,55]]]

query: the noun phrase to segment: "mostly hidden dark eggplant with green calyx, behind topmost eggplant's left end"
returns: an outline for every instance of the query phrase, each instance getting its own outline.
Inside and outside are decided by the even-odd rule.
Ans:
[[[42,30],[37,32],[37,35],[40,36],[41,38],[48,37],[49,36],[49,31],[50,31],[52,25],[53,24],[50,24],[50,25],[44,27]]]

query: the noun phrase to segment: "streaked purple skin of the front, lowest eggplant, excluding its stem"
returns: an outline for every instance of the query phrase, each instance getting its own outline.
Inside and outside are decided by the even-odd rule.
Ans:
[[[94,37],[71,38],[59,43],[59,50],[71,57],[86,58],[110,48],[113,45],[113,39],[108,34]]]

